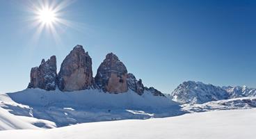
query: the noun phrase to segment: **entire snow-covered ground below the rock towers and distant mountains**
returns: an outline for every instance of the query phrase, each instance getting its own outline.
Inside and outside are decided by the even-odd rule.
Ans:
[[[26,89],[0,94],[0,138],[253,139],[255,107],[256,97],[179,104],[131,90]]]

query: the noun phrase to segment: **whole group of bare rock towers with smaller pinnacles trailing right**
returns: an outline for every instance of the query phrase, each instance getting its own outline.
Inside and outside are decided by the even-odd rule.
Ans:
[[[59,90],[67,92],[97,88],[115,94],[127,92],[129,88],[138,95],[143,95],[147,91],[155,96],[164,96],[154,88],[144,87],[142,80],[137,80],[134,74],[127,74],[127,68],[113,53],[106,55],[97,69],[95,78],[92,59],[81,45],[74,47],[65,57],[58,75],[56,69],[56,56],[51,56],[46,62],[43,59],[39,67],[31,69],[28,88],[55,90],[58,86]]]

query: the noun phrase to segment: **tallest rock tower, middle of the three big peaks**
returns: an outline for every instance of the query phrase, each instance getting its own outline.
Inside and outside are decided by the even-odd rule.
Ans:
[[[92,85],[92,59],[81,45],[77,45],[61,64],[58,88],[62,91],[74,91],[88,89]]]

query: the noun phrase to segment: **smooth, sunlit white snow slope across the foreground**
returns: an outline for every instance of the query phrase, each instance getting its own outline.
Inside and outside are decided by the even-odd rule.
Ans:
[[[93,122],[46,130],[0,131],[8,139],[254,139],[256,109],[189,113],[150,120]]]

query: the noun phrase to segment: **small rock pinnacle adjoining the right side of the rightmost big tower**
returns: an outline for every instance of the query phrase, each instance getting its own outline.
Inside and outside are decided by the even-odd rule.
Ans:
[[[127,74],[127,83],[128,88],[136,92],[138,95],[143,95],[145,88],[141,79],[137,80],[134,74],[129,73]]]

